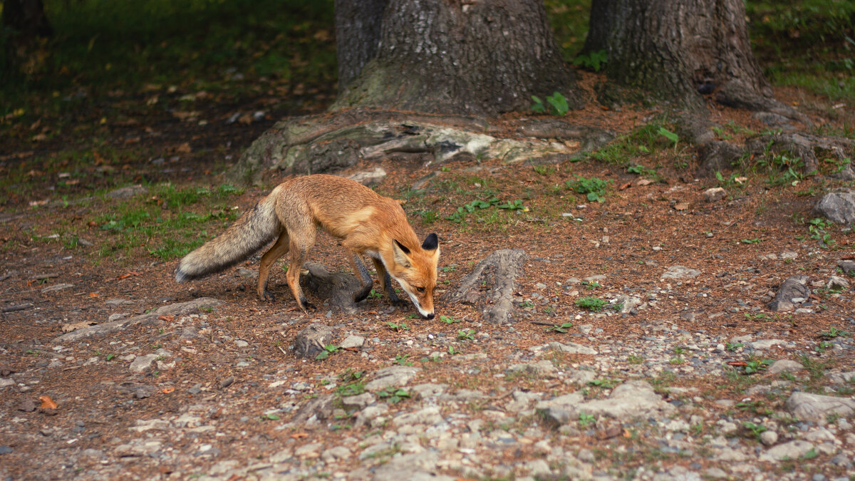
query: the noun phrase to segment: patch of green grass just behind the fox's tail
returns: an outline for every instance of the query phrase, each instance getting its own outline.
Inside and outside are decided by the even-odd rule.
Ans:
[[[228,185],[215,190],[157,186],[149,199],[122,202],[115,212],[94,219],[106,234],[98,255],[124,252],[130,257],[136,249],[144,248],[161,260],[184,256],[237,218],[237,211],[222,201],[239,193],[240,189]],[[208,229],[212,229],[211,234]]]

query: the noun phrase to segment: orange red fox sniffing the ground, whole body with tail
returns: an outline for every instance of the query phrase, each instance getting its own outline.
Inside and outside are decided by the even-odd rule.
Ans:
[[[399,302],[392,289],[394,279],[422,317],[433,318],[433,288],[439,261],[436,234],[428,235],[420,244],[398,201],[335,175],[305,175],[281,183],[226,232],[182,258],[175,280],[184,282],[225,270],[278,237],[262,256],[258,296],[274,300],[267,290],[270,266],[291,252],[286,279],[297,305],[306,312],[315,306],[306,300],[300,288],[300,270],[315,244],[318,225],[341,239],[345,249],[351,252],[351,266],[363,282],[363,289],[354,295],[355,300],[368,297],[373,284],[359,258],[368,254],[389,300]]]

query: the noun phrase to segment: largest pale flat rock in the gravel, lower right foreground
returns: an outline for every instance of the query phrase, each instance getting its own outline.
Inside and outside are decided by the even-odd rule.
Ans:
[[[557,425],[575,422],[581,413],[628,420],[641,416],[661,416],[674,407],[662,400],[644,381],[628,381],[617,386],[609,399],[583,401],[580,394],[559,396],[549,401],[540,401],[538,411],[545,419]]]

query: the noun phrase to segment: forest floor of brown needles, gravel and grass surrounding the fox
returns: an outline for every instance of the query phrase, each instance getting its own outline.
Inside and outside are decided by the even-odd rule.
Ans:
[[[833,109],[817,122],[826,130],[852,125],[848,105],[776,94],[814,119]],[[438,317],[374,296],[354,315],[322,301],[304,314],[278,268],[277,300],[257,299],[258,256],[200,282],[173,276],[183,253],[272,187],[230,186],[222,172],[290,112],[265,111],[263,95],[146,95],[194,105],[123,116],[139,98],[117,94],[100,106],[114,109],[109,122],[91,110],[6,130],[0,477],[855,476],[855,299],[828,287],[855,282],[839,267],[855,235],[811,213],[852,187],[828,176],[840,162],[793,175],[780,157],[750,159],[697,178],[693,146],[661,134],[666,116],[593,102],[567,121],[619,137],[578,162],[386,158],[375,189],[406,201],[420,236],[439,235]],[[764,130],[744,111],[711,116],[728,140]],[[705,199],[710,187],[726,196]],[[528,255],[512,322],[447,300],[507,248]],[[347,265],[326,235],[310,260]],[[770,311],[791,276],[807,276],[811,294],[797,311]],[[204,298],[221,303],[172,311]],[[122,319],[133,322],[60,338]],[[298,359],[292,343],[312,323],[354,347]],[[810,414],[793,407],[799,393],[840,404]]]

